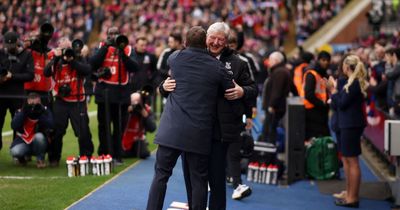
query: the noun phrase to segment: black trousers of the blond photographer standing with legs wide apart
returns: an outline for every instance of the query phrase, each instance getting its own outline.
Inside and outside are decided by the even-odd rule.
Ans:
[[[89,129],[89,117],[87,115],[86,102],[65,102],[56,99],[54,110],[54,138],[49,144],[49,160],[59,161],[62,152],[62,139],[68,128],[68,120],[71,121],[74,134],[78,137],[79,154],[92,156],[93,142]]]

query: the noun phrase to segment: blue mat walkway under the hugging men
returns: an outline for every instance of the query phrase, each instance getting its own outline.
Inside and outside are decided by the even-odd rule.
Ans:
[[[79,201],[70,209],[146,209],[147,196],[153,177],[155,156],[122,173],[119,177],[107,183],[85,199]],[[375,176],[361,161],[363,181],[374,181]],[[244,179],[244,178],[243,178]],[[344,209],[333,204],[330,195],[323,195],[313,181],[299,181],[290,186],[272,186],[247,183],[253,189],[250,197],[241,201],[231,199],[233,189],[227,187],[228,210],[333,210]],[[183,180],[181,163],[178,161],[174,173],[168,183],[164,209],[173,201],[186,202],[186,192]],[[362,199],[360,209],[383,210],[390,209],[390,203]]]

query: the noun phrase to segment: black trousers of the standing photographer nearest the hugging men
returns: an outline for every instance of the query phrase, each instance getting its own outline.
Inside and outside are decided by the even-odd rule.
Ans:
[[[99,122],[98,128],[100,141],[97,153],[99,155],[111,154],[113,158],[120,159],[122,152],[122,132],[124,131],[128,120],[128,104],[110,103],[109,107],[108,118],[110,121],[107,122],[105,103],[97,104],[97,120]],[[107,127],[109,128],[110,133],[107,132]],[[108,145],[107,135],[110,135],[111,145]]]

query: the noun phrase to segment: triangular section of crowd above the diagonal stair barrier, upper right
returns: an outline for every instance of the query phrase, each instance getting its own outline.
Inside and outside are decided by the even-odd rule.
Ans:
[[[297,1],[296,41],[302,45],[315,31],[336,16],[348,0]]]

